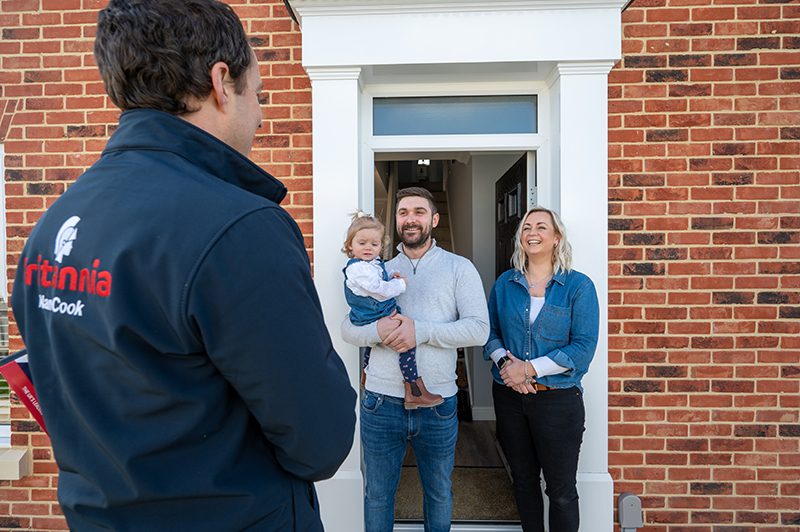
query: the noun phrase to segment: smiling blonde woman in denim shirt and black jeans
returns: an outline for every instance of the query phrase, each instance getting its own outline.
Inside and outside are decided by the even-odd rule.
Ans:
[[[577,532],[586,418],[581,379],[597,346],[597,293],[591,279],[572,270],[572,248],[555,212],[529,210],[514,244],[514,268],[497,279],[489,298],[491,332],[484,347],[485,358],[495,363],[497,438],[523,530],[544,531],[544,474],[550,530]]]

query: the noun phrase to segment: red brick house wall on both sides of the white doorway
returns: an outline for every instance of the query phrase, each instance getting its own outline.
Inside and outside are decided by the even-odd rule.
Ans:
[[[231,3],[268,95],[253,158],[289,187],[311,249],[301,35],[280,0]],[[5,142],[12,276],[32,225],[116,123],[91,56],[104,4],[0,0],[5,117],[18,100]],[[609,90],[615,491],[643,497],[647,530],[796,530],[800,5],[636,0],[623,21]],[[37,474],[0,481],[0,529],[63,528],[47,438],[22,407],[12,418]]]

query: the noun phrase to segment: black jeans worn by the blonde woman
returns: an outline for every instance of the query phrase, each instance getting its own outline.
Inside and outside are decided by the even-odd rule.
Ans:
[[[550,532],[577,532],[583,394],[567,388],[523,395],[495,382],[492,396],[497,439],[511,467],[522,529],[544,532],[541,472],[550,501]]]

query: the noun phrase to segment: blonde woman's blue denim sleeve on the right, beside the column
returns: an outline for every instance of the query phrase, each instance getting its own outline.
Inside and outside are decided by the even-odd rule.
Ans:
[[[549,353],[547,357],[569,370],[587,370],[594,358],[600,328],[600,307],[597,291],[591,279],[575,291],[572,300],[569,343]]]

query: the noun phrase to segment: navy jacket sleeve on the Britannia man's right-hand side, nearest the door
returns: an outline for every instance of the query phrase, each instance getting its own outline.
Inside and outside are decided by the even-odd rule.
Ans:
[[[350,452],[356,394],[334,351],[302,235],[278,207],[227,227],[186,286],[187,326],[245,402],[280,465],[309,481]]]

